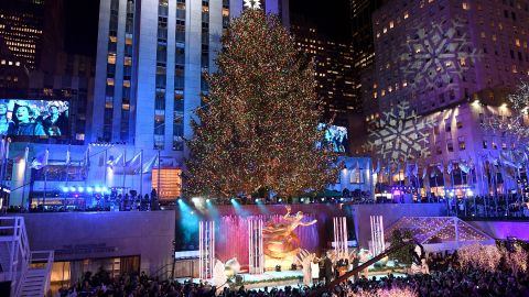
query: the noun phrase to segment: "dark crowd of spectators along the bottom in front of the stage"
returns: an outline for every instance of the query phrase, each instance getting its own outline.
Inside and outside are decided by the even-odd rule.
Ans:
[[[320,296],[379,296],[380,292],[404,289],[413,296],[449,297],[449,296],[529,296],[529,274],[514,272],[505,264],[495,271],[484,271],[472,266],[462,266],[457,253],[431,254],[428,257],[430,274],[410,274],[395,276],[388,274],[381,278],[360,276],[326,288],[324,282],[312,286],[287,286],[280,288],[263,287],[246,289],[244,286],[217,289],[207,283],[160,282],[150,278],[145,273],[126,274],[110,277],[102,270],[96,274],[86,273],[83,279],[69,288],[62,288],[56,296],[64,297],[298,297],[317,293]],[[500,263],[504,263],[500,261]],[[393,296],[393,295],[385,295]]]

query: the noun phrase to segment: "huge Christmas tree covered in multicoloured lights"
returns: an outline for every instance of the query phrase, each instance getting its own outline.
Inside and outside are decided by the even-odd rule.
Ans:
[[[323,109],[314,65],[278,18],[247,9],[222,42],[204,108],[192,122],[188,193],[291,197],[336,180],[335,156],[316,148]]]

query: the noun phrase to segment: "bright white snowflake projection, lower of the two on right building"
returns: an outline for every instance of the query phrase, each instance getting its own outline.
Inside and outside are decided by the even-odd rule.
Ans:
[[[407,161],[429,152],[432,122],[420,117],[403,101],[382,113],[376,128],[369,129],[368,148],[379,158]]]

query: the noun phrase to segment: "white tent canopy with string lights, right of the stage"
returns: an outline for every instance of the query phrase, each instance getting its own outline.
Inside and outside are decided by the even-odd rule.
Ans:
[[[403,217],[385,231],[386,242],[395,230],[410,230],[428,252],[457,250],[460,246],[494,244],[494,239],[456,217]]]

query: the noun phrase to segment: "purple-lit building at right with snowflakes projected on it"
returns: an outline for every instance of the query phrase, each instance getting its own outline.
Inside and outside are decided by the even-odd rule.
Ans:
[[[442,161],[444,168],[473,164],[474,182],[461,178],[452,187],[474,184],[488,193],[482,178],[490,174],[487,164],[517,143],[506,131],[484,125],[516,117],[507,95],[529,80],[528,16],[528,1],[505,0],[388,1],[377,10],[373,85],[363,87],[364,101],[375,102],[378,111],[366,121],[390,123],[404,102],[424,125],[393,131],[409,133],[409,143],[391,143],[371,127],[371,144],[373,136],[389,142],[376,154],[418,160],[429,174]]]

